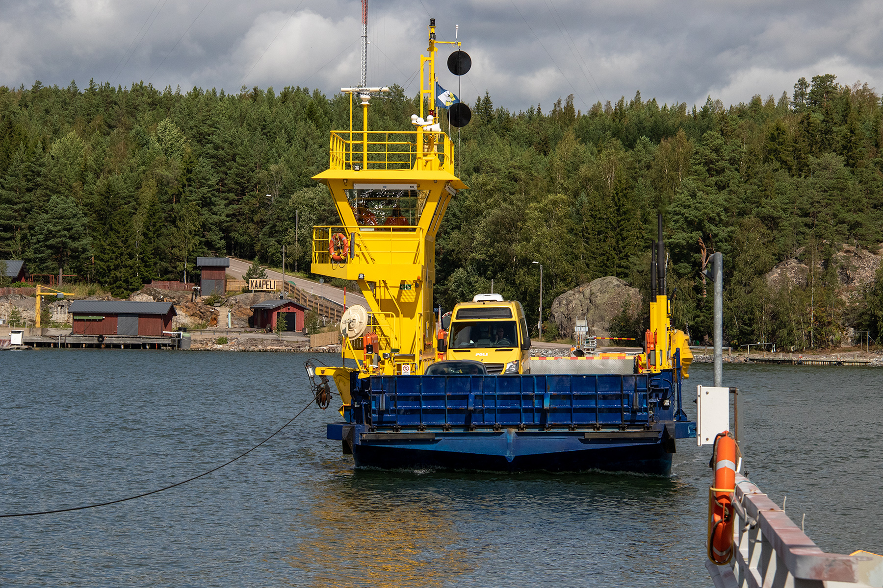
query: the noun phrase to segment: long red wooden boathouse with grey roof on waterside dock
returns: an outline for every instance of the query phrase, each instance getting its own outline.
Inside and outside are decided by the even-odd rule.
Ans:
[[[68,312],[73,316],[73,335],[162,336],[171,331],[176,316],[171,302],[76,300]]]

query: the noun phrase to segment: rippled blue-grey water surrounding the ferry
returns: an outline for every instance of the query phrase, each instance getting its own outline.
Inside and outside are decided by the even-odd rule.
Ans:
[[[308,357],[4,353],[0,510],[113,500],[223,463],[306,404]],[[743,390],[751,479],[788,495],[826,550],[883,551],[883,371],[726,366],[725,378]],[[691,385],[710,379],[693,368]],[[158,495],[0,519],[0,584],[711,585],[707,448],[679,442],[670,479],[356,472],[324,438],[334,416],[311,407]]]

